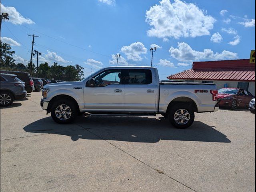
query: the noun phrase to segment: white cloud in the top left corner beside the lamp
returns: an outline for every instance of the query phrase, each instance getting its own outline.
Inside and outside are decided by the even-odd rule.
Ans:
[[[6,12],[9,14],[9,21],[13,24],[34,24],[34,22],[29,18],[24,18],[15,7],[5,7],[1,3],[1,14]]]

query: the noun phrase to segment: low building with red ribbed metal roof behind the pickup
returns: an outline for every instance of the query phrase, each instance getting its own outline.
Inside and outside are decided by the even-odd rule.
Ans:
[[[217,88],[237,87],[255,95],[255,64],[250,59],[193,62],[192,69],[167,77],[170,80],[215,83]]]

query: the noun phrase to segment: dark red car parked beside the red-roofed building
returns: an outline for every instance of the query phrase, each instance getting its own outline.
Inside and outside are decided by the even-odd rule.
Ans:
[[[252,98],[255,97],[246,90],[240,88],[222,88],[218,90],[217,104],[230,109],[235,109],[238,106],[248,108]]]

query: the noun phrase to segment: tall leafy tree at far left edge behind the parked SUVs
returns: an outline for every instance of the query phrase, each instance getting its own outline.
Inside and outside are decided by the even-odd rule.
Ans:
[[[14,59],[12,58],[12,55],[15,53],[15,51],[11,51],[10,44],[3,43],[0,41],[0,56],[1,56],[1,67],[10,67],[14,66]]]

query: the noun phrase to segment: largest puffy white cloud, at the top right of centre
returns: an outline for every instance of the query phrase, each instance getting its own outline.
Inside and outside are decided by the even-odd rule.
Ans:
[[[164,41],[168,37],[178,39],[209,35],[215,21],[195,4],[180,0],[174,0],[172,4],[170,0],[162,0],[160,5],[156,4],[146,11],[146,22],[152,26],[147,31],[148,36],[163,38]]]

